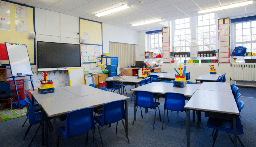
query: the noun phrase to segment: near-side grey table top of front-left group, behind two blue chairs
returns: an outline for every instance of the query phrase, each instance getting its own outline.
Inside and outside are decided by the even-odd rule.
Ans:
[[[65,99],[61,101],[43,103],[41,104],[41,106],[44,109],[44,111],[47,113],[48,117],[54,117],[54,116],[66,114],[73,110],[82,109],[82,108],[91,107],[91,106],[96,107],[108,102],[122,100],[122,99],[129,99],[129,97],[104,91],[103,93],[94,94],[94,95],[87,95],[83,97],[76,97],[73,99]]]

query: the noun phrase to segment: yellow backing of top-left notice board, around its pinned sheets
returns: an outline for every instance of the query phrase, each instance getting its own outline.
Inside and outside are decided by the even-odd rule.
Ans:
[[[34,39],[28,39],[28,32],[34,31],[33,8],[27,7],[27,19],[15,18],[15,4],[10,3],[10,16],[0,15],[10,18],[10,31],[0,30],[0,43],[11,42],[26,44],[30,63],[34,64]],[[15,19],[26,20],[28,23],[28,32],[16,32]],[[8,60],[3,60],[2,64],[9,64]]]

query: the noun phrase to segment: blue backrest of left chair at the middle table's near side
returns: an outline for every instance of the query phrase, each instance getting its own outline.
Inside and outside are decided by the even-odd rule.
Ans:
[[[135,105],[145,108],[153,108],[153,94],[149,91],[136,91]]]

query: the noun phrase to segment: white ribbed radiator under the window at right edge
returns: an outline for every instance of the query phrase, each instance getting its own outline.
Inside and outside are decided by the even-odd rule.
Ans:
[[[233,63],[234,80],[256,81],[256,63]]]

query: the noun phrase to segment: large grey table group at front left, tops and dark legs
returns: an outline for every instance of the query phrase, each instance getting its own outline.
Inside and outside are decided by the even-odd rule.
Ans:
[[[129,97],[119,95],[116,93],[111,93],[107,91],[103,91],[101,89],[92,88],[89,85],[78,85],[78,86],[70,86],[64,88],[56,88],[54,93],[47,94],[38,94],[37,91],[30,91],[32,94],[32,101],[34,98],[37,100],[38,104],[41,106],[41,127],[42,127],[42,146],[46,145],[48,147],[48,123],[45,122],[44,127],[44,116],[45,120],[48,117],[53,118],[53,133],[54,133],[54,146],[57,146],[57,130],[56,130],[56,118],[58,116],[63,116],[70,111],[82,109],[86,107],[97,107],[103,105],[104,103],[116,101],[116,100],[125,100],[125,111],[127,115],[127,119],[125,120],[126,126],[126,136],[128,136],[128,108],[127,108],[127,99]],[[73,98],[66,97],[65,94],[61,94],[61,92],[65,92],[65,94],[72,95]],[[92,92],[91,92],[92,91]],[[74,94],[73,94],[73,93]],[[82,96],[78,96],[82,95]],[[49,100],[43,101],[43,99]],[[45,130],[44,130],[45,129]],[[45,135],[44,135],[45,131]]]

